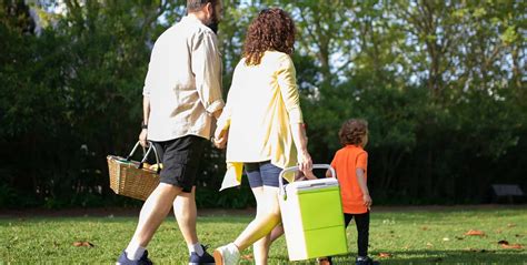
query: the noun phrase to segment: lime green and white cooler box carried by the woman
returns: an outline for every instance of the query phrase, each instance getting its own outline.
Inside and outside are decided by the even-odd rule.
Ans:
[[[298,172],[288,167],[280,173],[280,210],[290,261],[348,253],[340,190],[335,170],[332,177],[294,182],[284,185],[284,174]]]

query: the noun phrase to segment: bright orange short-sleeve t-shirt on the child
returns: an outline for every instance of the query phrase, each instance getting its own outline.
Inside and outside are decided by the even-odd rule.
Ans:
[[[362,169],[367,179],[368,153],[360,146],[346,145],[335,154],[331,166],[337,173],[340,184],[342,210],[348,214],[364,214],[368,208],[364,205],[362,191],[357,181],[356,169]]]

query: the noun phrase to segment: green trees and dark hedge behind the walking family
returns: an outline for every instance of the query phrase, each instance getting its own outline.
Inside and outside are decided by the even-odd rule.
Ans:
[[[109,190],[106,155],[137,140],[150,49],[186,1],[27,2],[0,1],[0,207],[137,205]],[[225,0],[226,92],[249,21],[272,6],[297,22],[315,162],[330,162],[346,119],[364,118],[378,204],[526,190],[525,1]],[[203,164],[200,206],[252,203],[247,185],[217,192],[222,152]]]

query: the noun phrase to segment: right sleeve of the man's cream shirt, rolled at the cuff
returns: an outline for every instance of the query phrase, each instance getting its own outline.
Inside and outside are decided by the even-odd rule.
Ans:
[[[207,112],[221,110],[225,105],[221,98],[221,58],[212,32],[201,31],[195,37],[191,67],[196,89]]]

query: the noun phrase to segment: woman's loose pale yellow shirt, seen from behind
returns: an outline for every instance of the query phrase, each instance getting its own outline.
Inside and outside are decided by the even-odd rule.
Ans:
[[[304,120],[291,58],[267,51],[260,64],[250,67],[241,59],[218,119],[218,128],[229,130],[227,173],[220,191],[241,183],[245,162],[270,160],[281,169],[296,165],[291,124],[299,123]]]

